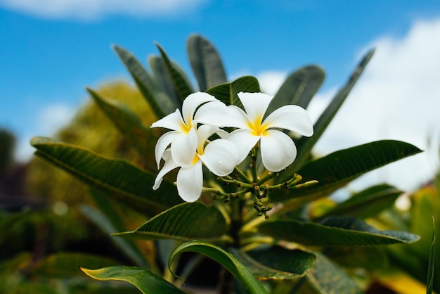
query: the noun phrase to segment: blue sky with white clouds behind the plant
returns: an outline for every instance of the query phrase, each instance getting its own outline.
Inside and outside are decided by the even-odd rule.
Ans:
[[[50,136],[67,122],[87,99],[84,87],[129,80],[111,44],[145,63],[157,54],[157,41],[190,72],[186,39],[193,33],[212,41],[229,77],[254,75],[269,93],[300,66],[321,65],[327,77],[312,117],[374,46],[375,57],[317,146],[320,153],[376,139],[426,148],[429,132],[440,134],[437,0],[0,0],[0,127],[18,136],[18,158],[32,154],[30,137]],[[372,181],[424,181],[437,159],[429,152],[414,158],[407,165],[417,179],[414,172],[394,179],[384,170]]]

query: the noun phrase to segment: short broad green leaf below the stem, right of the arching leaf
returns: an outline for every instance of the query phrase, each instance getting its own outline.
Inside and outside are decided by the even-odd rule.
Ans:
[[[297,279],[312,267],[315,255],[280,246],[259,248],[244,253],[232,249],[231,253],[259,280]]]

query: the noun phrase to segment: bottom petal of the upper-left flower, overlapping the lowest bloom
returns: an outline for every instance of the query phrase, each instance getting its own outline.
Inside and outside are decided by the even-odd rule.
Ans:
[[[188,134],[179,133],[171,143],[173,160],[181,167],[191,165],[197,148],[197,134],[195,129],[190,129]]]

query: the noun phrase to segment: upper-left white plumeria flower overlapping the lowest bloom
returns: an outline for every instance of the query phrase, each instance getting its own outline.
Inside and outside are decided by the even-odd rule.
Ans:
[[[195,134],[197,124],[222,127],[221,124],[226,123],[225,117],[228,117],[226,105],[214,96],[197,92],[186,97],[182,104],[182,114],[179,109],[176,109],[174,113],[151,125],[151,127],[164,127],[172,130],[157,140],[155,147],[157,169],[160,167],[160,159],[164,151],[170,144],[174,162],[181,166],[190,164],[198,143],[197,134]]]

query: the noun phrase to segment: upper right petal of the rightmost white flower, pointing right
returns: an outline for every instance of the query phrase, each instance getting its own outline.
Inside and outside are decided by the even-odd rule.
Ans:
[[[263,124],[270,127],[288,129],[289,131],[311,136],[313,134],[313,124],[309,113],[304,108],[295,105],[287,105],[273,111]]]

